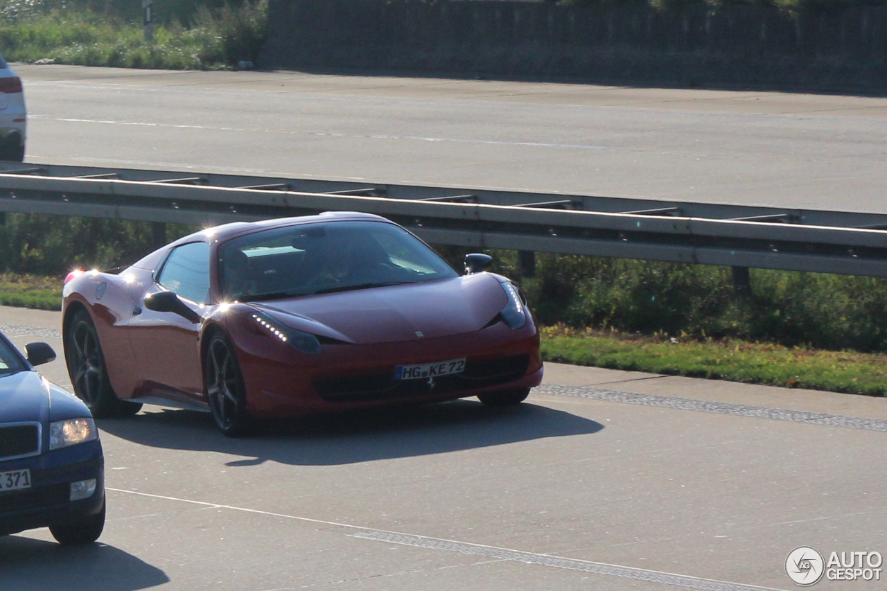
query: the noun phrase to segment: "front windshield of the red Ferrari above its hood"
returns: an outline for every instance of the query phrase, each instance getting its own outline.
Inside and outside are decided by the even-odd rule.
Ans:
[[[457,277],[434,250],[384,222],[293,225],[218,250],[219,291],[239,301],[309,296]]]

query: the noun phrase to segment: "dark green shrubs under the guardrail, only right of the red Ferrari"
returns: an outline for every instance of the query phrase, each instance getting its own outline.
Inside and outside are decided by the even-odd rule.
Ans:
[[[443,247],[457,269],[467,248]],[[491,271],[517,278],[513,251]],[[541,324],[696,340],[739,338],[829,350],[887,351],[887,280],[750,270],[734,293],[728,267],[538,253],[521,285]]]

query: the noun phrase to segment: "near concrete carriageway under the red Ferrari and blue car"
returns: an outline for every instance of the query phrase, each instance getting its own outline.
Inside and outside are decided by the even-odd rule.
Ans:
[[[59,325],[0,308],[19,346],[60,353]],[[61,359],[42,369],[69,384]],[[797,588],[799,546],[887,555],[881,398],[547,364],[511,409],[468,399],[242,440],[158,407],[99,426],[100,543],[0,539],[0,588],[741,591]]]

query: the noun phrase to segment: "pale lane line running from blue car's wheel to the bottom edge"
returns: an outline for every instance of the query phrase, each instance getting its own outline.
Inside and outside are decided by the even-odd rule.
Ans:
[[[333,525],[335,527],[346,528],[349,530],[357,530],[357,532],[347,534],[351,538],[360,538],[363,540],[383,541],[391,544],[400,544],[404,546],[413,546],[415,548],[428,548],[435,550],[448,550],[451,552],[459,552],[472,556],[488,556],[502,561],[514,561],[527,564],[538,564],[541,566],[549,566],[554,568],[566,569],[569,571],[592,572],[595,574],[609,575],[613,577],[621,577],[624,579],[643,580],[674,587],[687,587],[692,589],[703,589],[704,591],[784,591],[774,587],[760,587],[757,585],[746,585],[743,583],[733,583],[729,581],[717,579],[702,579],[689,575],[675,574],[673,572],[650,571],[647,569],[639,569],[632,566],[620,566],[618,564],[595,563],[587,560],[577,560],[574,558],[564,558],[562,556],[553,556],[549,554],[538,554],[535,552],[523,552],[522,550],[513,550],[510,548],[498,548],[496,546],[487,546],[484,544],[471,544],[456,540],[445,540],[443,538],[431,538],[428,536],[417,536],[412,533],[389,532],[373,527],[365,527],[363,525],[342,524],[335,521],[326,521],[324,519],[313,519],[311,517],[302,517],[287,515],[285,513],[274,513],[272,511],[262,511],[260,509],[234,507],[232,505],[224,505],[220,503],[210,503],[203,500],[180,499],[161,494],[139,493],[137,491],[128,491],[120,488],[106,488],[107,491],[114,493],[129,493],[138,496],[149,497],[152,499],[175,500],[178,502],[191,503],[192,505],[200,505],[206,508],[224,508],[232,511],[243,511],[244,513],[255,513],[258,515],[266,515],[272,517],[283,517],[285,519],[294,519],[310,524]]]

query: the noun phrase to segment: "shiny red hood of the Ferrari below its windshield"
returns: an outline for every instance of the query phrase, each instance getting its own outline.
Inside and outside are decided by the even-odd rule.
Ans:
[[[508,297],[498,280],[488,273],[476,273],[253,305],[271,312],[288,327],[366,344],[418,341],[480,330],[506,303]],[[318,331],[316,323],[330,332]]]

